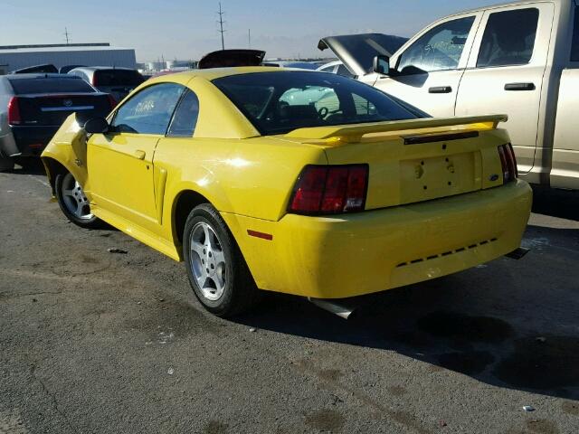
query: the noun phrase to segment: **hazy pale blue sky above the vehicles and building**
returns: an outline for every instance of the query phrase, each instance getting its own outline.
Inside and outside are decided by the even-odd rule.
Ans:
[[[318,40],[331,34],[410,37],[447,14],[498,0],[223,0],[225,48],[251,46],[267,58],[331,57]],[[138,61],[197,60],[221,49],[214,0],[2,0],[0,45],[110,42]]]

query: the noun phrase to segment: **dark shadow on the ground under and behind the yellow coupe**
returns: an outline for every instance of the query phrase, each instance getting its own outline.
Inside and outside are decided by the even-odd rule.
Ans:
[[[283,295],[268,295],[252,315],[237,321],[395,351],[499,387],[579,400],[579,279],[567,274],[557,281],[553,275],[565,272],[537,269],[549,255],[572,253],[556,245],[569,239],[565,246],[577,244],[579,230],[529,227],[527,238],[537,237],[551,244],[520,261],[498,259],[480,269],[351,298],[347,301],[359,308],[348,321]]]

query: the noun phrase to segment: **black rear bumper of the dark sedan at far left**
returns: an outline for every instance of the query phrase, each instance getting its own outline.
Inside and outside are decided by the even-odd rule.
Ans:
[[[4,156],[40,156],[44,147],[59,127],[12,126],[12,134],[0,140],[0,152]],[[8,137],[11,137],[8,139]]]

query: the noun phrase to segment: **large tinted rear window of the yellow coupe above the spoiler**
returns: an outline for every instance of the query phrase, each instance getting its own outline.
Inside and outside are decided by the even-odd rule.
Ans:
[[[335,74],[256,72],[214,80],[261,132],[422,118],[380,90]]]

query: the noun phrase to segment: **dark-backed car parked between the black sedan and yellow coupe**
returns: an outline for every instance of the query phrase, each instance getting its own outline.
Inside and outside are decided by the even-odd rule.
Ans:
[[[68,73],[88,81],[100,92],[109,93],[117,102],[145,81],[137,70],[111,66],[83,66]]]

